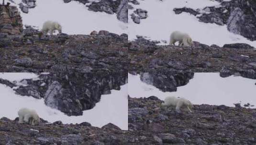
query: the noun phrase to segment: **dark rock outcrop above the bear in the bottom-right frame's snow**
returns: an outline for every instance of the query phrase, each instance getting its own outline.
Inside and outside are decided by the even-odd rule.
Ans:
[[[189,83],[194,73],[140,73],[142,82],[151,84],[163,92],[175,92],[178,86]]]

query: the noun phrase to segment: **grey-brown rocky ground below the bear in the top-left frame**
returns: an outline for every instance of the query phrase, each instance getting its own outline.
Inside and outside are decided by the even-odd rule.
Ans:
[[[27,26],[22,35],[0,34],[1,72],[118,72],[128,69],[127,34],[64,33],[42,36]]]

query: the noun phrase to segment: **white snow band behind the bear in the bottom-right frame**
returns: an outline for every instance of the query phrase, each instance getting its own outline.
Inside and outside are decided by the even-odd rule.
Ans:
[[[136,98],[154,95],[164,100],[167,96],[180,96],[193,104],[234,106],[241,101],[241,105],[256,105],[256,80],[241,76],[222,78],[219,73],[195,73],[194,78],[187,85],[178,87],[177,92],[162,92],[141,82],[139,75],[129,74],[128,81],[128,94]]]

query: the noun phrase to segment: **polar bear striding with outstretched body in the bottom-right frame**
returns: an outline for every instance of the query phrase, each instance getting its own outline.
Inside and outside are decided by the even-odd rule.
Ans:
[[[176,111],[180,113],[180,108],[187,107],[189,112],[192,113],[190,108],[193,108],[193,104],[185,99],[185,98],[177,98],[174,96],[167,96],[165,98],[165,103],[162,103],[161,106],[166,106],[167,108],[170,106],[176,107]]]

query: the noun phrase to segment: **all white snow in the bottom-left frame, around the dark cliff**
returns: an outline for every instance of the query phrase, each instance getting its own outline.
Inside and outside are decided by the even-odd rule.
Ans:
[[[0,78],[11,78],[21,80],[22,77],[33,77],[32,73],[0,73]],[[19,76],[19,77],[18,77]],[[15,119],[18,117],[18,110],[27,107],[36,110],[39,116],[51,123],[62,121],[64,124],[76,124],[89,122],[92,126],[102,127],[112,123],[123,130],[128,130],[128,84],[122,85],[121,90],[111,90],[111,94],[101,95],[101,100],[90,110],[83,111],[81,116],[67,116],[59,110],[45,105],[44,99],[35,99],[31,96],[20,96],[6,85],[0,84],[0,118],[7,117]],[[7,110],[7,111],[3,111]]]

